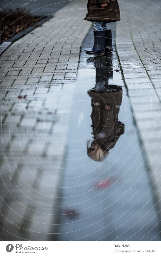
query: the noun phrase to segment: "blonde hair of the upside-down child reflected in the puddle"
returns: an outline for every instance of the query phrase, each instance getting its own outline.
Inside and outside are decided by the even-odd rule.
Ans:
[[[87,141],[87,155],[92,160],[101,162],[109,155],[109,151],[103,150],[100,146],[97,149],[92,150],[90,147],[90,141]]]

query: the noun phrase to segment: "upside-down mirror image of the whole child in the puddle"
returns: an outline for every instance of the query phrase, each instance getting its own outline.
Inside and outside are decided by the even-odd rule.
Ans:
[[[87,154],[92,160],[102,161],[108,156],[109,150],[115,146],[120,135],[124,133],[125,126],[118,121],[122,88],[108,84],[111,78],[107,77],[107,73],[111,75],[110,66],[106,75],[99,75],[97,70],[96,68],[95,88],[88,91],[92,106],[93,141],[87,142]]]

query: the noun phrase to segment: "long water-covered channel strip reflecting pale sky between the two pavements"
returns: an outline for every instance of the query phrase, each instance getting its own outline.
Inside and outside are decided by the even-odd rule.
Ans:
[[[70,131],[64,132],[68,147],[58,240],[160,241],[153,190],[117,56],[86,55],[91,36],[92,31],[83,42],[67,106],[72,112]],[[102,162],[87,156],[88,140],[106,147]]]

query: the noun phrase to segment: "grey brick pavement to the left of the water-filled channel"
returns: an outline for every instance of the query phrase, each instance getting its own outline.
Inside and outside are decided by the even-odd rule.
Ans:
[[[70,102],[80,44],[90,25],[85,14],[86,0],[72,1],[0,56],[0,206],[8,220],[21,226],[1,219],[4,240],[50,240],[48,233],[55,239],[64,150],[54,146],[53,131],[59,140],[66,102],[59,109],[57,103],[66,94]],[[64,130],[69,127],[65,114]]]

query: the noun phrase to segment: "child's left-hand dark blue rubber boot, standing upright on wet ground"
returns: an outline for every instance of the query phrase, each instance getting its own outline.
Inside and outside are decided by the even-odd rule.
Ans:
[[[91,51],[87,51],[87,54],[92,55],[104,55],[105,54],[105,30],[93,31],[94,33],[94,47]]]

